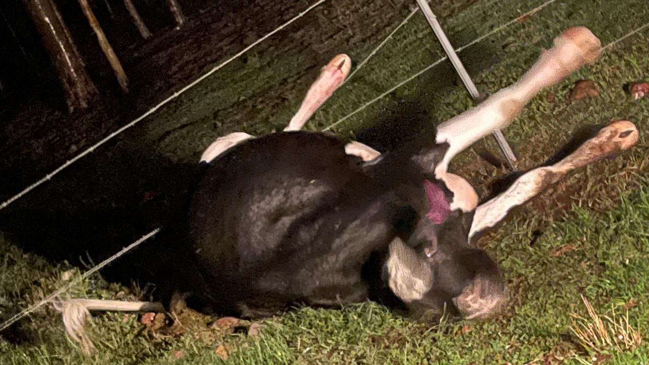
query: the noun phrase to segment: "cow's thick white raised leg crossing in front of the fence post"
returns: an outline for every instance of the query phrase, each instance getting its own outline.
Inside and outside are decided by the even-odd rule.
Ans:
[[[504,88],[478,105],[437,127],[435,142],[448,144],[443,159],[435,166],[435,177],[443,180],[450,160],[495,129],[503,129],[543,88],[591,63],[598,57],[600,40],[585,27],[569,28],[554,39],[532,68],[512,86]]]

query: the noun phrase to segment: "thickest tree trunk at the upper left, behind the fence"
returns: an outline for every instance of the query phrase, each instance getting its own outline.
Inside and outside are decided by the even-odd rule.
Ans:
[[[50,0],[23,0],[27,12],[43,38],[43,44],[54,64],[66,94],[67,110],[88,107],[97,94],[69,31]]]

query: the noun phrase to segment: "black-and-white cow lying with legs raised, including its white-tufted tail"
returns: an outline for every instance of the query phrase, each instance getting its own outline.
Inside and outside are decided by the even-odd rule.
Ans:
[[[513,86],[442,123],[434,137],[422,134],[383,155],[329,134],[298,131],[347,75],[349,58],[337,56],[323,70],[336,80],[321,75],[302,104],[306,111],[289,124],[293,131],[234,134],[204,153],[207,166],[189,216],[188,250],[202,283],[196,294],[220,314],[245,318],[296,304],[339,307],[368,299],[416,316],[445,308],[469,319],[495,314],[504,283],[496,263],[472,240],[567,171],[635,144],[638,132],[629,121],[612,123],[482,205],[467,181],[448,173],[448,164],[599,51],[588,29],[567,29]],[[59,308],[67,332],[87,340],[82,325],[88,310],[145,306],[162,310],[155,303],[89,299]]]

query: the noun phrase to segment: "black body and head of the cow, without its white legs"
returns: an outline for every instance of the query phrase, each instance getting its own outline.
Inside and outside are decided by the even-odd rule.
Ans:
[[[500,300],[495,262],[467,242],[472,212],[450,212],[453,194],[426,168],[447,149],[363,163],[334,136],[281,132],[218,157],[193,199],[190,238],[219,312],[267,316],[393,294],[441,308],[474,294],[462,291],[478,278],[480,297]]]

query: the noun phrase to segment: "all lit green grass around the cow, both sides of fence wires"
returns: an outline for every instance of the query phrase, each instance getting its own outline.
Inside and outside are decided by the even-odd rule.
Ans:
[[[539,3],[482,1],[455,14],[444,27],[456,45],[466,44]],[[607,44],[648,22],[649,10],[640,0],[557,1],[467,49],[461,57],[480,90],[494,92],[515,81],[535,60],[539,47],[549,47],[561,29],[586,25]],[[522,157],[522,168],[543,161],[583,125],[627,118],[639,127],[641,139],[617,159],[565,177],[553,191],[519,210],[479,242],[496,258],[508,281],[508,310],[495,320],[417,323],[374,303],[363,303],[343,310],[299,308],[264,321],[261,334],[252,338],[238,330],[210,327],[215,318],[191,311],[180,318],[182,326],[168,332],[149,331],[136,315],[109,313],[89,322],[88,331],[99,352],[84,357],[64,336],[54,310],[42,308],[3,333],[0,364],[212,364],[226,357],[228,364],[585,364],[604,360],[649,364],[646,340],[628,348],[593,338],[587,341],[593,325],[604,328],[599,333],[609,337],[609,330],[618,331],[611,321],[624,327],[628,320],[630,333],[638,331],[644,338],[649,333],[649,227],[645,224],[649,220],[649,156],[645,153],[649,99],[631,101],[622,92],[625,82],[647,77],[648,32],[622,42],[592,66],[550,88],[554,98],[535,98],[506,130]],[[437,44],[428,42],[430,36],[425,21],[413,18],[328,101],[310,128],[334,123],[441,57]],[[352,59],[358,63],[378,42],[349,50]],[[262,46],[251,57],[255,57],[249,62],[256,65],[254,69],[232,62],[121,139],[182,161],[195,160],[211,140],[227,132],[260,134],[278,129],[275,120],[288,120],[303,93],[282,82],[302,55]],[[443,77],[447,72],[443,66],[424,74],[341,123],[336,132],[353,135],[397,118],[403,110],[421,110],[424,118],[442,121],[471,107],[465,90]],[[568,104],[565,97],[570,84],[585,78],[598,83],[600,96]],[[281,100],[260,97],[271,93],[282,95]],[[129,142],[129,138],[137,141]],[[495,149],[489,139],[480,147]],[[463,153],[455,168],[484,195],[500,171],[479,161],[475,151]],[[104,153],[95,155],[110,158]],[[565,199],[550,204],[553,193]],[[2,320],[80,275],[79,268],[25,253],[3,236],[0,252]],[[67,294],[112,299],[134,297],[135,292],[96,275]],[[583,305],[582,295],[592,310]],[[604,324],[598,325],[596,318],[603,318]],[[606,327],[607,323],[612,327]]]

